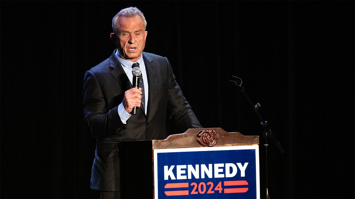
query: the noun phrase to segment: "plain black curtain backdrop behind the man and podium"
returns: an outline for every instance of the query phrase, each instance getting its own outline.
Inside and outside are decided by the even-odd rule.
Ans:
[[[232,75],[285,150],[269,142],[271,198],[354,197],[354,1],[0,3],[1,198],[92,198],[83,76],[128,6],[204,127],[260,136],[261,198],[263,129]]]

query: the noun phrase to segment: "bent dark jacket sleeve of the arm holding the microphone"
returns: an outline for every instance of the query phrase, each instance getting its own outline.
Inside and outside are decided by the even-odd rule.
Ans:
[[[101,138],[126,129],[118,114],[118,106],[107,110],[107,100],[91,71],[84,76],[84,123],[92,138]]]

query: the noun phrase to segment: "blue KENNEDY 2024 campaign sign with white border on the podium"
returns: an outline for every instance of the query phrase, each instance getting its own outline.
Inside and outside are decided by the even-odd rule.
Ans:
[[[260,199],[259,148],[154,149],[154,198]]]

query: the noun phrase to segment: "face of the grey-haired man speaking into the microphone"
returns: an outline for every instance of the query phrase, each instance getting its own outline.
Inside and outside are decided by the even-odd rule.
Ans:
[[[120,56],[132,62],[138,61],[146,45],[147,31],[140,16],[121,17],[117,21],[119,32],[116,45]],[[114,35],[111,35],[111,38]]]

